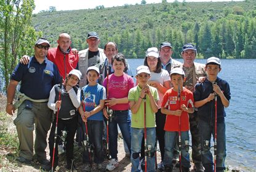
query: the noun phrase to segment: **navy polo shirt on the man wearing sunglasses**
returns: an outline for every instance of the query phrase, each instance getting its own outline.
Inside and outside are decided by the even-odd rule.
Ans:
[[[28,64],[19,63],[10,78],[22,81],[20,92],[35,100],[48,99],[52,87],[61,81],[58,68],[53,62],[45,58],[40,64],[34,56]]]

